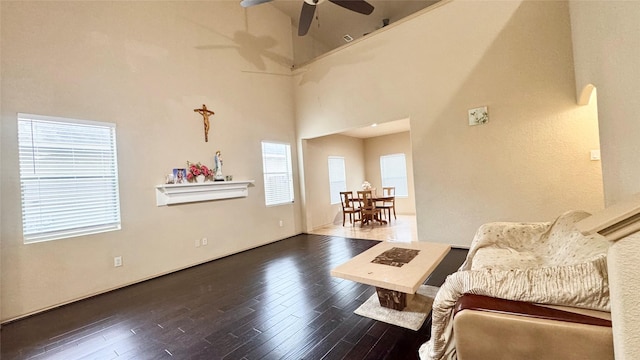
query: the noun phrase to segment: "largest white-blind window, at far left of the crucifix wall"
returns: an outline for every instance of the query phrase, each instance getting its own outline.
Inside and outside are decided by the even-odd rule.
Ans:
[[[120,229],[115,124],[18,114],[25,243]]]

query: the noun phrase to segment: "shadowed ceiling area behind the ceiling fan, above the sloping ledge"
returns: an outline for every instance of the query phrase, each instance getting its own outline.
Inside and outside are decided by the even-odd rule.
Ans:
[[[422,10],[439,0],[367,0],[374,10],[363,15],[345,9],[330,1],[320,0],[316,5],[315,19],[305,37],[313,37],[324,43],[330,50],[346,44],[343,36],[354,39],[363,37],[382,27],[383,19],[392,24],[408,15]],[[303,0],[273,0],[269,4],[287,14],[297,28]],[[297,33],[294,34],[297,36]]]

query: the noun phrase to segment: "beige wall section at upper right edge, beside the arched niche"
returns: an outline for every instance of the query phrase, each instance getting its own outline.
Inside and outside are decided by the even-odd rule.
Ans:
[[[607,204],[640,192],[640,4],[572,1],[576,89],[598,90]]]

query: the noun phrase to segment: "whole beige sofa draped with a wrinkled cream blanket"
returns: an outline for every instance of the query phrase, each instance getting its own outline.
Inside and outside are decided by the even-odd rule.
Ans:
[[[609,243],[575,227],[589,216],[481,226],[438,291],[421,359],[613,359]]]

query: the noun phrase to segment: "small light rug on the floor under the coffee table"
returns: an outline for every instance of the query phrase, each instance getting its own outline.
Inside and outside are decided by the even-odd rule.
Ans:
[[[438,289],[436,286],[420,285],[413,299],[402,311],[380,306],[378,295],[373,294],[354,313],[386,322],[387,324],[418,331],[431,312],[433,298],[436,296]]]

